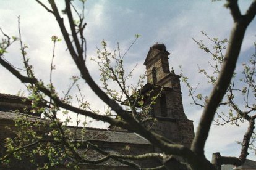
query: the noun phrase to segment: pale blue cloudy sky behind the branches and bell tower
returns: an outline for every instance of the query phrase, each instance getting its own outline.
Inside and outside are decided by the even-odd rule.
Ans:
[[[45,4],[48,6],[48,2]],[[59,9],[64,9],[62,1],[58,2]],[[192,41],[192,38],[207,39],[202,36],[201,31],[205,31],[210,37],[220,39],[229,38],[232,28],[232,17],[229,10],[223,7],[225,1],[168,1],[168,0],[88,0],[85,3],[85,20],[87,28],[85,37],[87,38],[87,66],[93,79],[100,84],[100,76],[96,63],[92,62],[97,56],[96,47],[101,46],[104,39],[111,50],[117,46],[121,47],[121,52],[125,52],[135,39],[135,34],[140,34],[140,38],[125,58],[126,69],[130,70],[137,64],[134,71],[134,79],[130,83],[135,83],[140,74],[145,71],[143,62],[147,52],[156,42],[164,43],[169,55],[169,65],[173,67],[176,74],[181,73],[179,65],[182,66],[184,75],[190,79],[192,86],[198,86],[204,94],[210,94],[211,86],[205,82],[203,76],[198,75],[198,65],[205,69],[210,69],[208,61],[210,55],[205,54]],[[241,12],[244,13],[251,1],[239,1]],[[75,2],[77,8],[81,8],[79,2]],[[46,12],[43,7],[33,0],[2,0],[0,2],[0,26],[5,33],[11,36],[19,36],[17,16],[20,16],[20,28],[22,40],[28,45],[27,53],[30,62],[34,65],[35,75],[49,83],[49,68],[53,51],[51,36],[56,35],[62,38],[59,27],[54,17]],[[66,17],[64,17],[66,21]],[[256,19],[249,25],[245,34],[241,49],[241,57],[237,63],[236,71],[242,70],[241,63],[254,54],[252,44],[256,41],[255,26]],[[7,49],[6,59],[15,67],[22,68],[22,61],[19,43],[16,42]],[[53,72],[53,83],[59,95],[66,91],[72,76],[79,76],[74,62],[66,51],[64,41],[56,45],[56,57],[54,63],[56,70]],[[17,94],[19,90],[27,91],[9,71],[0,66],[0,92],[6,94]],[[86,100],[91,103],[91,107],[103,111],[105,105],[88,88],[87,84],[80,80],[82,92]],[[194,121],[196,129],[202,108],[190,105],[192,99],[188,97],[188,90],[185,84],[181,83],[184,112],[189,119]],[[77,94],[75,89],[71,94]],[[93,122],[90,127],[106,128],[108,124]],[[212,126],[210,136],[207,139],[205,154],[211,160],[211,154],[220,152],[224,156],[239,156],[241,148],[235,141],[241,141],[247,124],[240,127]],[[256,160],[254,154],[249,157]]]

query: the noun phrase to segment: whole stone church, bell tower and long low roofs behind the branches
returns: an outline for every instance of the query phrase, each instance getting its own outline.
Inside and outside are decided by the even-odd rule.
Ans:
[[[168,56],[169,52],[166,51],[164,44],[155,44],[150,47],[144,62],[147,71],[147,83],[140,91],[146,94],[157,86],[158,90],[156,92],[161,93],[156,99],[155,105],[150,110],[151,118],[156,119],[156,123],[151,127],[151,131],[155,131],[173,142],[190,147],[194,138],[193,121],[187,119],[184,113],[180,76],[176,75],[173,68],[170,70]],[[143,100],[145,100],[145,103],[150,103],[150,96],[145,97]],[[126,105],[125,103],[121,104]],[[47,122],[46,119],[38,115],[33,115],[33,113],[29,115],[22,113],[23,108],[31,108],[31,101],[24,97],[0,94],[0,155],[3,155],[6,150],[4,139],[14,136],[12,130],[16,128],[14,125],[15,119],[25,115],[32,122]],[[129,111],[127,111],[127,114],[129,114]],[[67,126],[66,128],[69,131],[77,130],[78,134],[82,134],[82,127]],[[43,133],[44,129],[36,131]],[[155,148],[148,140],[138,134],[114,126],[109,126],[109,129],[86,128],[82,139],[98,145],[101,150],[109,153],[139,155],[148,152],[158,152],[158,148]],[[95,152],[95,150],[88,149],[86,146],[81,146],[79,150],[81,152],[87,150],[88,157],[92,160],[103,156]],[[26,162],[26,160],[20,161],[12,158],[10,164],[1,164],[0,169],[35,168],[35,165],[29,162],[24,163],[24,161]],[[148,160],[136,161],[136,163],[149,168],[151,166],[157,166],[161,162],[159,160]],[[83,164],[80,168],[132,169],[125,164],[111,159],[100,164]],[[64,169],[64,166],[60,164],[56,169]]]

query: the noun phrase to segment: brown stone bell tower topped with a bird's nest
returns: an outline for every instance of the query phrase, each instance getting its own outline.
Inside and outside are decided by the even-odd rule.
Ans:
[[[147,70],[145,86],[163,87],[150,113],[158,120],[153,131],[189,147],[194,138],[193,121],[187,119],[184,113],[180,76],[174,73],[173,68],[170,71],[169,54],[164,44],[155,44],[150,47],[144,62]]]

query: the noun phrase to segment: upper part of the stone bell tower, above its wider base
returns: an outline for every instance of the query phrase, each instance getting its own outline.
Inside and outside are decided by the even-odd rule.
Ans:
[[[144,65],[147,70],[147,83],[164,88],[161,97],[153,106],[155,116],[166,118],[186,118],[183,111],[180,76],[169,69],[168,55],[164,44],[150,47]]]

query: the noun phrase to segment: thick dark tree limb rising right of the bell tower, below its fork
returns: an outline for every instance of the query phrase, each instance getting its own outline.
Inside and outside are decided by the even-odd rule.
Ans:
[[[233,10],[234,9],[231,9],[231,11]],[[221,68],[221,73],[218,77],[215,87],[213,88],[213,91],[210,94],[208,103],[203,110],[203,115],[200,119],[195,138],[192,142],[192,150],[198,155],[204,155],[203,148],[205,147],[205,142],[210,131],[211,122],[213,121],[215,111],[218,108],[219,103],[226,94],[229,83],[233,76],[242,41],[244,39],[245,30],[248,25],[249,23],[245,23],[241,20],[239,20],[239,22],[235,22],[233,25],[233,30],[231,31],[229,38],[228,49],[226,51],[223,66]]]

